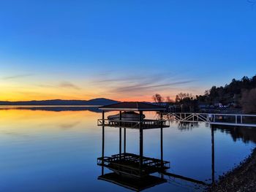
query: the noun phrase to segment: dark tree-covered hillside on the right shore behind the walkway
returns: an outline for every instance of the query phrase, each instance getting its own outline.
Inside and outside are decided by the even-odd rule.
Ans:
[[[225,86],[212,86],[203,95],[193,96],[191,93],[178,93],[175,100],[166,98],[156,93],[153,96],[157,104],[180,107],[184,112],[199,110],[200,105],[233,108],[244,113],[256,113],[256,75],[242,77],[241,80],[233,79]]]

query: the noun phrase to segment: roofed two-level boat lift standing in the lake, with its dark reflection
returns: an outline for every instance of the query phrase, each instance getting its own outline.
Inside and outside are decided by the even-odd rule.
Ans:
[[[99,107],[102,110],[102,118],[98,120],[98,126],[102,126],[102,157],[97,158],[97,164],[102,166],[102,175],[98,177],[99,180],[106,180],[118,185],[129,186],[128,180],[124,179],[129,177],[132,183],[140,183],[140,186],[129,186],[134,190],[142,190],[149,186],[165,183],[163,178],[154,178],[150,174],[154,172],[162,172],[170,168],[169,161],[163,161],[163,145],[162,145],[162,129],[167,126],[166,120],[162,119],[162,112],[165,111],[164,107],[159,107],[154,104],[143,102],[121,102],[118,104],[110,104]],[[117,111],[118,118],[105,118],[105,112]],[[143,112],[154,111],[159,114],[157,119],[146,119]],[[124,119],[124,112],[136,112],[138,119],[132,120]],[[122,119],[123,118],[123,119]],[[119,153],[111,156],[105,156],[105,127],[119,128]],[[139,131],[140,136],[140,154],[127,153],[126,151],[126,128],[135,128]],[[159,128],[161,131],[160,151],[161,159],[150,158],[143,155],[143,130],[149,128]],[[124,129],[124,147],[122,151],[122,129]],[[104,174],[104,167],[113,171],[111,174]],[[123,179],[120,179],[122,177]],[[132,179],[131,179],[132,178]],[[147,179],[146,179],[147,178]],[[151,178],[151,182],[146,182]],[[125,184],[124,184],[125,183]],[[143,183],[143,186],[141,185]],[[139,190],[139,191],[140,191]]]

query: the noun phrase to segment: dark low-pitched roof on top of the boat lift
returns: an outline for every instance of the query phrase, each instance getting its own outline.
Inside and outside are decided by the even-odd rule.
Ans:
[[[99,107],[99,110],[108,111],[163,111],[165,107],[145,102],[120,102]]]

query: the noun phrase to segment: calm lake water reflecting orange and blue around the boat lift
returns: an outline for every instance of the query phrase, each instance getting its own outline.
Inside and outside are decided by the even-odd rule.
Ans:
[[[101,167],[101,113],[96,109],[0,110],[0,191],[129,191],[97,180]],[[107,114],[108,115],[108,114]],[[154,117],[154,113],[148,113]],[[211,128],[179,126],[163,130],[167,172],[211,183]],[[160,131],[144,131],[144,155],[160,158]],[[232,169],[255,147],[250,128],[214,128],[215,178]],[[138,130],[127,129],[127,152],[139,153]],[[118,153],[118,128],[105,128],[105,155]],[[105,169],[105,172],[108,172]],[[159,176],[159,174],[154,174]],[[145,191],[200,191],[174,177]]]

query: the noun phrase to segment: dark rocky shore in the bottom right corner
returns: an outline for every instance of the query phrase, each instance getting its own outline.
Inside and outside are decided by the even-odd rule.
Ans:
[[[256,191],[256,148],[235,169],[219,177],[219,182],[214,187],[208,188],[208,191]]]

